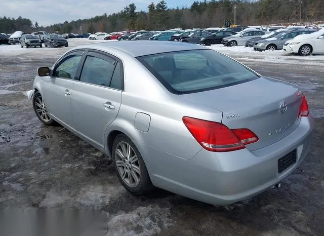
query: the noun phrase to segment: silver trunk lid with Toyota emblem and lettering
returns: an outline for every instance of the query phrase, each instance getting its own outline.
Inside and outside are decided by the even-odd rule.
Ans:
[[[299,90],[296,85],[260,77],[247,83],[179,96],[220,110],[222,123],[230,129],[250,129],[259,138],[258,142],[246,146],[253,151],[287,137],[297,128],[302,102]],[[280,111],[280,105],[285,102],[287,110]]]

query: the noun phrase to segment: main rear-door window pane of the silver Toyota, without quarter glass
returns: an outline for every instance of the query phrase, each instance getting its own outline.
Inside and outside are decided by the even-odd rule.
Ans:
[[[116,60],[110,57],[88,55],[83,65],[80,81],[109,87]]]

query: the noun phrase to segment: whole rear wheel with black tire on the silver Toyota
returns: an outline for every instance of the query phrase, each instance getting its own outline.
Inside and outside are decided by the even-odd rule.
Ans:
[[[153,189],[142,155],[130,138],[117,135],[111,153],[117,177],[129,192],[143,195]]]

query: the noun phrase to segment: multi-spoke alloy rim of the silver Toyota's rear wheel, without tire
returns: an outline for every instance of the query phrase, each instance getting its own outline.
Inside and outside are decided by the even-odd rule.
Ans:
[[[114,158],[121,179],[128,186],[137,187],[141,180],[141,169],[133,148],[127,142],[119,142]]]

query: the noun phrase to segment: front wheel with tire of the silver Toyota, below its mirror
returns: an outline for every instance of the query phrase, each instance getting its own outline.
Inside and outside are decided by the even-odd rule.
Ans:
[[[34,108],[37,118],[43,124],[48,126],[57,125],[57,123],[49,115],[45,101],[43,100],[41,93],[38,91],[35,92],[34,96],[32,97],[32,107]]]

